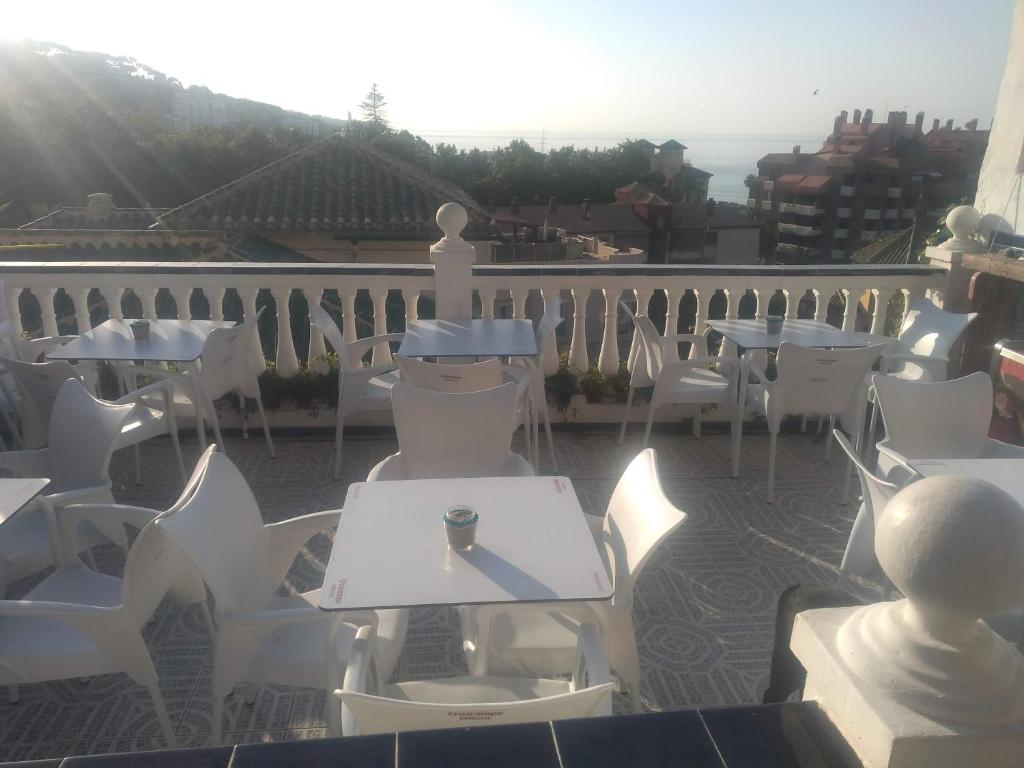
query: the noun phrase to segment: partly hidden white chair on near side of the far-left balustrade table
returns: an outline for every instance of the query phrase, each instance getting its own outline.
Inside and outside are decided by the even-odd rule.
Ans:
[[[22,444],[26,449],[46,445],[53,404],[60,385],[68,379],[79,379],[79,373],[63,360],[22,362],[0,357],[2,365],[17,384],[22,394]],[[82,382],[85,383],[84,381]],[[174,415],[174,384],[157,381],[114,400],[114,404],[134,404],[131,416],[121,430],[117,449],[134,446],[135,482],[141,481],[141,457],[138,444],[151,437],[169,434],[178,461],[178,472],[185,478],[184,460],[178,442],[178,426]]]

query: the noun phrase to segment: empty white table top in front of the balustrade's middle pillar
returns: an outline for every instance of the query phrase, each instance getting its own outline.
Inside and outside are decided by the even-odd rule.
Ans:
[[[413,321],[398,346],[402,357],[485,357],[537,354],[524,319]]]

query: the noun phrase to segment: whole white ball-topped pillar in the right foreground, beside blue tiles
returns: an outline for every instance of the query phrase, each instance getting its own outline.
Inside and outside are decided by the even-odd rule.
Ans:
[[[914,482],[877,520],[901,600],[801,613],[792,648],[865,766],[1019,765],[1024,656],[984,618],[1024,603],[1024,508],[970,477]]]

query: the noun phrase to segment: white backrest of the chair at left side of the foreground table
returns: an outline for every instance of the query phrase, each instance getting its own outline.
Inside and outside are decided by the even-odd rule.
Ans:
[[[259,506],[231,460],[212,453],[190,498],[157,518],[203,574],[218,612],[266,605],[276,585],[266,569],[267,538]]]

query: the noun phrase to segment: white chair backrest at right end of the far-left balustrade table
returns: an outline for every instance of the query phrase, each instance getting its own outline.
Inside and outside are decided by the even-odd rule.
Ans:
[[[214,329],[206,337],[200,376],[211,399],[232,391],[246,397],[259,394],[256,377],[266,370],[266,360],[256,324],[263,309],[245,323]]]

